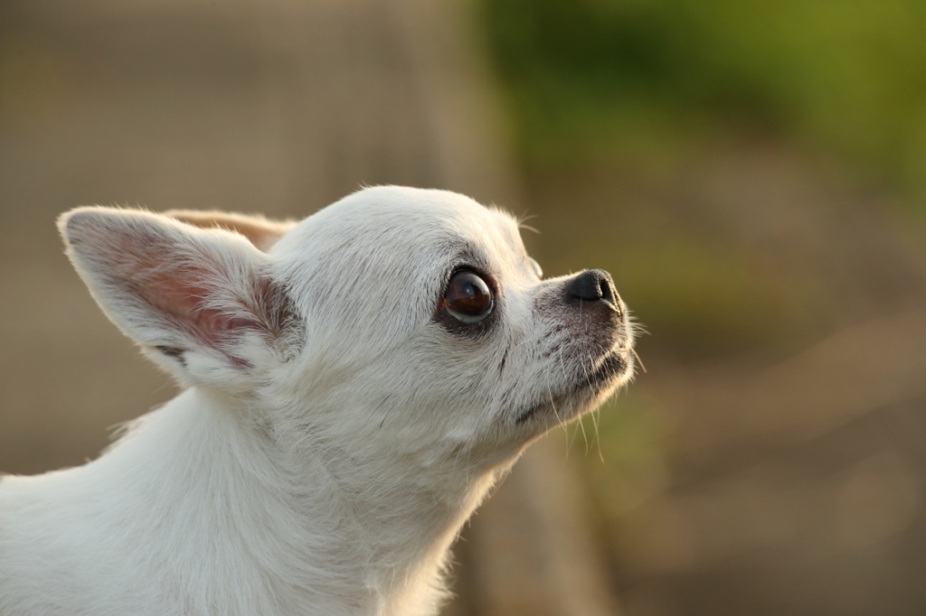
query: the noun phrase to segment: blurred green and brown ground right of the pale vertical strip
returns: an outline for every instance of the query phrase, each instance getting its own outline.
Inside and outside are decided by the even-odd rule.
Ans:
[[[647,330],[570,434],[625,610],[922,613],[926,3],[481,9],[529,241]]]

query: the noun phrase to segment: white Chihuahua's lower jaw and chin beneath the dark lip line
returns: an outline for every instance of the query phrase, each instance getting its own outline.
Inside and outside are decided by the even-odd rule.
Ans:
[[[516,425],[540,425],[544,430],[594,410],[633,376],[630,349],[616,348],[599,358],[587,374],[567,387],[548,392],[546,400],[527,405],[514,415]]]

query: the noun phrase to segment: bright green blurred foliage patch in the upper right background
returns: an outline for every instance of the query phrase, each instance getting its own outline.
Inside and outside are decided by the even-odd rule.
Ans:
[[[917,0],[483,5],[530,166],[774,134],[926,194],[926,5]]]

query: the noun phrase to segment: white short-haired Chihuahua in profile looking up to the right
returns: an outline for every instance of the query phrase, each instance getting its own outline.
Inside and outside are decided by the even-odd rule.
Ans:
[[[58,226],[183,390],[92,462],[0,480],[4,616],[434,614],[490,488],[632,378],[607,272],[544,279],[512,216],[453,192]]]

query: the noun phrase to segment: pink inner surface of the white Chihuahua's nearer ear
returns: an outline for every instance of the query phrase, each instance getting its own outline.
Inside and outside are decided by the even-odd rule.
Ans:
[[[133,334],[147,325],[166,325],[181,334],[163,342],[169,356],[180,357],[196,346],[219,351],[236,365],[248,363],[233,355],[233,342],[247,331],[279,337],[295,322],[286,294],[259,274],[257,263],[233,244],[197,240],[154,216],[85,211],[65,219],[63,229],[75,263],[91,279],[105,281],[100,301],[114,310],[114,319]],[[221,251],[221,253],[213,253]],[[234,273],[227,271],[233,268]],[[95,286],[95,285],[94,285]],[[119,296],[122,296],[119,301]],[[131,303],[151,311],[115,310]],[[189,340],[184,343],[182,340]]]

